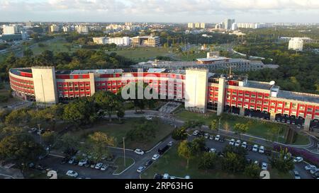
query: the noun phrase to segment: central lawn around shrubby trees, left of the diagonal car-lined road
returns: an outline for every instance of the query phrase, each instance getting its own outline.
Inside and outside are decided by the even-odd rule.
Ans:
[[[113,124],[109,124],[107,121],[99,122],[94,127],[90,129],[82,129],[79,131],[72,131],[73,135],[79,136],[82,141],[85,141],[89,134],[93,134],[96,131],[101,131],[109,136],[114,136],[117,141],[118,147],[123,147],[123,137],[126,136],[128,131],[134,128],[134,124],[137,119],[125,119],[123,124],[118,124],[118,121],[113,120]],[[143,150],[149,150],[153,146],[159,143],[162,139],[168,136],[174,130],[169,124],[165,124],[161,120],[153,119],[154,127],[156,130],[155,138],[151,138],[149,141],[130,141],[125,140],[125,148],[141,148]]]

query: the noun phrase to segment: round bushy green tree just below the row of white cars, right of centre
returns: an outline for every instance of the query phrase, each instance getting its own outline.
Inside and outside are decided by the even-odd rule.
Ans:
[[[222,159],[222,168],[226,172],[242,172],[245,169],[246,160],[244,156],[240,156],[233,152],[225,153]]]

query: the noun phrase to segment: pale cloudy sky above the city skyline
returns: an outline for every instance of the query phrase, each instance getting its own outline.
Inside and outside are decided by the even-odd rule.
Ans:
[[[0,0],[0,21],[319,23],[319,0]]]

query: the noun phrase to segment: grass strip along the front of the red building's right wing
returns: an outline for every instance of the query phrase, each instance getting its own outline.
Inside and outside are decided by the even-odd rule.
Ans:
[[[178,119],[188,121],[188,120],[198,120],[204,122],[206,125],[209,125],[213,119],[219,119],[215,112],[208,112],[206,114],[189,112],[189,111],[181,111],[176,114]],[[264,122],[255,119],[249,119],[246,117],[237,117],[233,115],[223,115],[222,119],[220,119],[220,128],[228,129],[233,131],[233,127],[236,123],[245,124],[249,122],[249,129],[247,134],[251,134],[252,136],[259,136],[264,139],[275,140],[277,136],[271,132],[271,129],[281,129],[279,132],[279,142],[284,143],[286,140],[284,139],[284,134],[286,133],[286,129],[288,127],[284,124],[277,124],[272,122]],[[296,145],[306,145],[309,143],[308,137],[298,134],[296,141],[293,144]]]

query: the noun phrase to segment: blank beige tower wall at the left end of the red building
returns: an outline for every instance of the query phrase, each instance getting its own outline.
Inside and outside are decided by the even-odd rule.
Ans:
[[[55,67],[32,67],[35,100],[37,103],[56,104],[57,82],[55,81]]]

